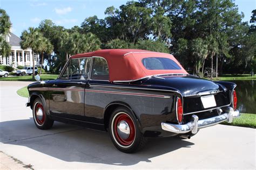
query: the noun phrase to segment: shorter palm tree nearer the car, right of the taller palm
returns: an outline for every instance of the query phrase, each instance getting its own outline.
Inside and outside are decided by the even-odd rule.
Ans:
[[[38,43],[37,51],[38,51],[38,53],[41,53],[41,69],[39,72],[39,75],[41,75],[41,70],[43,68],[43,63],[44,63],[44,53],[51,54],[51,52],[53,51],[53,45],[47,38],[45,38],[43,36],[40,36],[37,43]]]

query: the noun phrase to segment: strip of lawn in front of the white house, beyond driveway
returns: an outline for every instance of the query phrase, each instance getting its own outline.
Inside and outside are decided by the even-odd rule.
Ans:
[[[41,75],[41,80],[55,80],[57,79],[58,75]],[[25,75],[25,76],[14,76],[14,77],[0,77],[0,81],[36,81],[32,79],[32,75]]]

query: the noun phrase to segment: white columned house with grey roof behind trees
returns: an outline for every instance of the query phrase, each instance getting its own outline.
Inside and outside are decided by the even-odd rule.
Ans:
[[[31,48],[22,49],[19,43],[21,38],[17,37],[14,33],[9,33],[4,36],[11,46],[11,54],[8,57],[0,55],[0,65],[17,66],[33,66],[32,50]],[[39,54],[34,54],[35,65],[39,66]]]

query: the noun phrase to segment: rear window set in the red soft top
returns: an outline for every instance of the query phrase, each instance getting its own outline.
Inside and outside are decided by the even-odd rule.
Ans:
[[[149,57],[142,59],[142,63],[146,69],[150,70],[181,69],[175,61],[169,58]]]

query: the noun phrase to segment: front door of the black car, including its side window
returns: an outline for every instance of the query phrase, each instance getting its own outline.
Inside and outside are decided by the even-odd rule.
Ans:
[[[51,115],[84,119],[85,86],[89,79],[91,58],[71,59],[62,74],[49,87]]]

